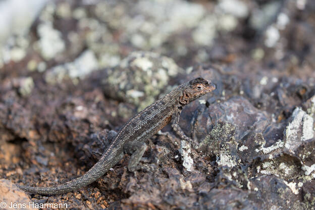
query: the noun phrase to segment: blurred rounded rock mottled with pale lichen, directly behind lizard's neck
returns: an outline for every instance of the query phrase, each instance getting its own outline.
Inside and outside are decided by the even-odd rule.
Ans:
[[[107,70],[102,83],[108,96],[134,103],[141,111],[166,93],[171,77],[181,72],[184,70],[173,59],[150,51],[134,51],[119,66]]]

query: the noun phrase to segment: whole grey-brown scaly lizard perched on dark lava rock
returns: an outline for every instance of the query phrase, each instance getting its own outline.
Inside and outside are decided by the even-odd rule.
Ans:
[[[77,190],[104,175],[123,159],[125,152],[131,154],[128,163],[129,171],[150,171],[149,166],[138,165],[147,147],[143,141],[171,122],[174,132],[181,139],[190,141],[196,146],[197,142],[187,137],[178,125],[179,115],[187,103],[215,89],[215,85],[209,84],[201,77],[186,82],[133,116],[117,133],[110,131],[111,144],[99,161],[81,177],[52,187],[23,185],[18,185],[18,187],[24,191],[41,195],[62,194]]]

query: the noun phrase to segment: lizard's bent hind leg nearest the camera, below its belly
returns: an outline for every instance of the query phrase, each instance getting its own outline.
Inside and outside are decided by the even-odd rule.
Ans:
[[[126,153],[131,154],[129,163],[128,163],[128,170],[130,172],[143,170],[143,171],[153,171],[153,167],[147,165],[138,165],[140,159],[144,151],[146,150],[146,144],[141,141],[130,141],[125,144],[124,149]]]

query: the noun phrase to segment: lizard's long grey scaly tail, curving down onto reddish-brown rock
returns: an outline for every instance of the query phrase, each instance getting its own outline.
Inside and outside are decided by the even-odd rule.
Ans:
[[[55,195],[71,192],[77,190],[81,187],[84,187],[94,181],[99,177],[104,175],[113,165],[117,162],[117,158],[111,157],[110,155],[103,155],[102,158],[84,175],[73,179],[69,182],[66,182],[61,185],[52,186],[52,187],[31,187],[17,185],[20,189],[30,192],[32,194],[40,195]]]

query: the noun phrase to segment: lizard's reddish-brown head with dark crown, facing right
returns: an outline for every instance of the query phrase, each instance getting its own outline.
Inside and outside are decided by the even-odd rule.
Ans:
[[[187,83],[183,90],[183,96],[180,98],[179,102],[187,104],[208,92],[214,91],[215,89],[216,85],[209,84],[205,79],[198,77]]]

